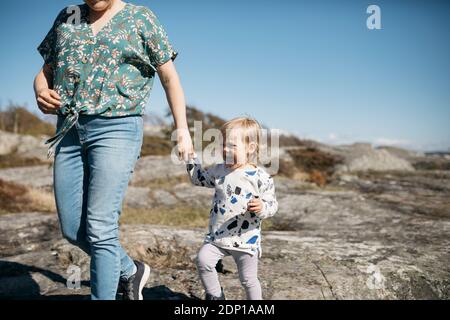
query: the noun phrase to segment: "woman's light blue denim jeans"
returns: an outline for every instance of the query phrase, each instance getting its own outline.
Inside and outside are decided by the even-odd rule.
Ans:
[[[57,130],[64,117],[58,115]],[[92,299],[114,300],[135,271],[119,242],[119,216],[139,159],[143,117],[80,115],[55,148],[54,193],[63,236],[91,256]]]

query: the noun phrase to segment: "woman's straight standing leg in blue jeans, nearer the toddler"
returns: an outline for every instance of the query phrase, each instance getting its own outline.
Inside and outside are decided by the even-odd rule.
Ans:
[[[81,118],[80,118],[81,119]],[[136,266],[119,242],[119,216],[143,138],[140,116],[82,118],[89,183],[86,228],[91,245],[93,299],[113,300],[119,278]]]

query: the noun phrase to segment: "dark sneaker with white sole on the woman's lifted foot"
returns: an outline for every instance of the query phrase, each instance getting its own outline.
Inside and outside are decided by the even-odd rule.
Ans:
[[[128,279],[120,280],[120,288],[123,300],[144,300],[142,289],[144,289],[150,277],[150,267],[140,261],[134,261],[137,271]]]

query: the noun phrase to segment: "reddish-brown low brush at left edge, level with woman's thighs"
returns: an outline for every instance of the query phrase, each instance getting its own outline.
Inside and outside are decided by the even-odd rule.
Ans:
[[[0,214],[40,211],[56,211],[51,193],[0,179]]]

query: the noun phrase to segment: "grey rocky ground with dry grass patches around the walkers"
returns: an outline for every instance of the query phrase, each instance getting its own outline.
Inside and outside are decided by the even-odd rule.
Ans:
[[[45,163],[42,141],[2,139],[8,143],[0,154],[43,162],[2,168],[0,181],[53,199],[52,167]],[[448,156],[367,144],[316,147],[343,162],[325,187],[301,175],[275,177],[280,206],[264,222],[259,269],[264,298],[449,299]],[[121,240],[133,258],[152,268],[145,299],[203,298],[194,260],[212,192],[191,186],[184,166],[169,157],[139,159],[124,201]],[[0,298],[89,299],[89,257],[61,238],[53,205],[0,215]],[[170,214],[182,216],[169,223]],[[226,297],[244,298],[233,260],[223,263]],[[80,288],[68,288],[78,271]]]

